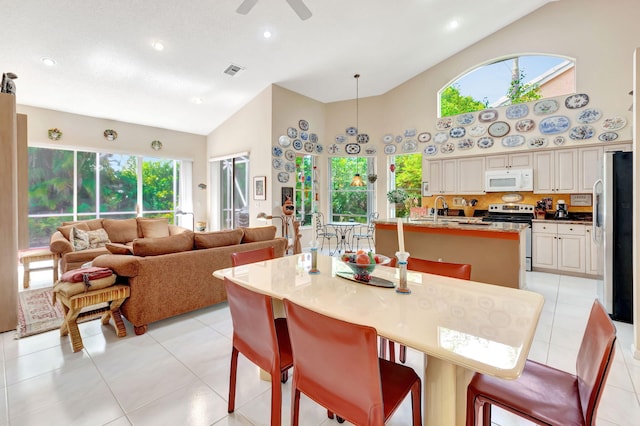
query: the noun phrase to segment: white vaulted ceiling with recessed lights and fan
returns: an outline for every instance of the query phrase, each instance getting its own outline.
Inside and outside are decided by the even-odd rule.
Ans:
[[[549,0],[305,0],[305,21],[241,2],[3,1],[0,72],[19,104],[206,135],[270,84],[333,102],[358,72],[360,97],[380,95]]]

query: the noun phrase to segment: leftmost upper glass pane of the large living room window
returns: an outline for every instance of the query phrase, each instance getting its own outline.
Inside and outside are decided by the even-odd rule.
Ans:
[[[73,151],[29,148],[29,214],[73,213]]]

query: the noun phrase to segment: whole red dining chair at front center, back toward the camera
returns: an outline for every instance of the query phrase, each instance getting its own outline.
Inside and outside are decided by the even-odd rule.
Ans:
[[[382,425],[411,392],[413,426],[422,424],[421,382],[413,369],[378,358],[373,327],[341,321],[284,300],[293,350],[291,425],[300,393],[357,425]]]

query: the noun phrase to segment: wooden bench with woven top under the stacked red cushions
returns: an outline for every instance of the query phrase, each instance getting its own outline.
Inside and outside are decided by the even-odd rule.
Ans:
[[[78,319],[92,319],[102,317],[102,324],[109,324],[113,318],[113,325],[118,337],[127,335],[127,329],[122,320],[120,306],[129,297],[129,286],[115,284],[111,287],[99,290],[90,290],[86,293],[67,297],[62,293],[56,293],[56,299],[60,300],[64,309],[64,322],[60,326],[60,336],[71,335],[71,346],[74,352],[82,350],[82,337],[78,329]],[[95,309],[82,311],[83,308],[96,306]]]

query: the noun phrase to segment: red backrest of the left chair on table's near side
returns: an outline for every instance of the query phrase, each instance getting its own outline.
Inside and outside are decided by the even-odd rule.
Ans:
[[[271,298],[224,279],[233,322],[233,345],[260,368],[280,367]]]

